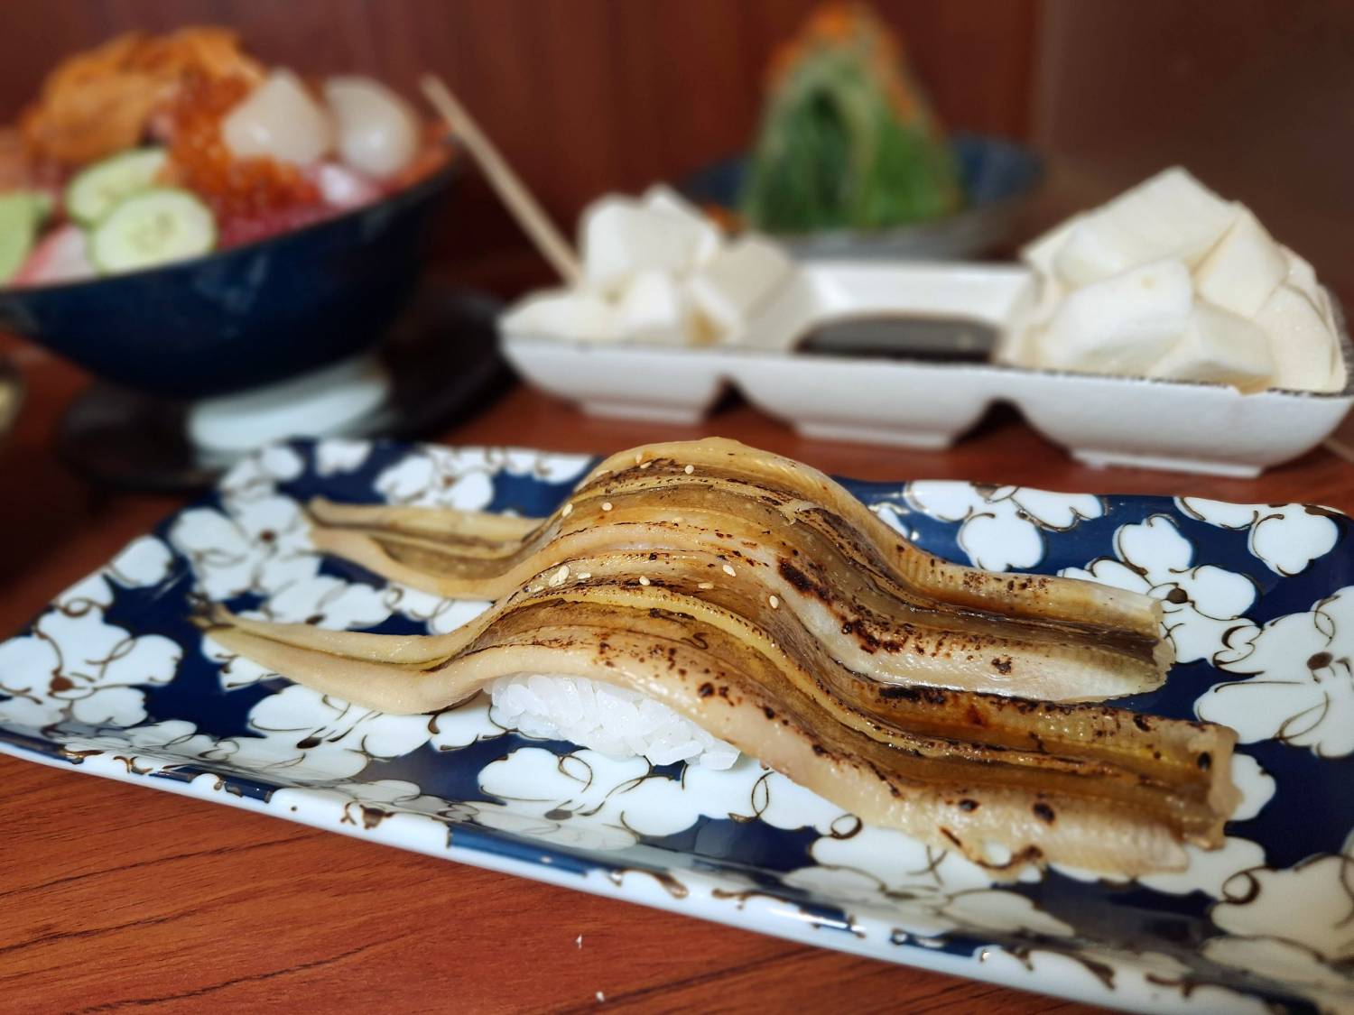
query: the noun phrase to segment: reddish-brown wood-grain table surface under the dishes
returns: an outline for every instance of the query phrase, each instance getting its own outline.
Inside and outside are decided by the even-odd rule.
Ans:
[[[5,349],[28,380],[0,448],[9,633],[180,501],[99,493],[68,474],[53,433],[85,379],[0,338]],[[705,433],[860,478],[1354,510],[1354,468],[1324,451],[1250,482],[1094,471],[1009,414],[936,453],[800,440],[743,405],[696,428],[603,422],[515,388],[441,440],[607,452]],[[0,1010],[1090,1011],[8,758],[0,815]]]

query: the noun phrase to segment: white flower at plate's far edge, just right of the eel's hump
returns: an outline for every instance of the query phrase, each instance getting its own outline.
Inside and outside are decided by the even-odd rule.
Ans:
[[[957,521],[959,545],[975,567],[1010,571],[1044,559],[1044,531],[1067,532],[1105,513],[1101,498],[1055,494],[1021,486],[979,486],[945,480],[909,483],[903,494],[913,509],[942,521]],[[907,535],[896,505],[876,513]]]

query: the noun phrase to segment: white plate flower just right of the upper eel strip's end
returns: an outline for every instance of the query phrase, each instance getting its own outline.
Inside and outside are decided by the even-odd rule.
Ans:
[[[1059,574],[1160,601],[1166,636],[1179,663],[1212,658],[1255,602],[1255,585],[1244,575],[1213,564],[1194,566],[1194,547],[1164,514],[1121,525],[1114,532],[1114,555],[1117,559],[1099,558]]]

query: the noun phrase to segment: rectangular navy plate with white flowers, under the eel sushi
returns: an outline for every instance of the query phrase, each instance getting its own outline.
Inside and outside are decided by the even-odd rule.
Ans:
[[[447,631],[485,604],[310,547],[298,503],[546,513],[585,456],[324,441],[244,461],[0,643],[0,751],[784,938],[1093,1003],[1354,1010],[1354,522],[1301,505],[848,483],[921,545],[1093,577],[1166,608],[1179,663],[1132,708],[1238,729],[1224,849],[1137,881],[997,885],[749,759],[728,771],[529,740],[475,700],[386,716],[190,625],[206,594],[284,621]]]

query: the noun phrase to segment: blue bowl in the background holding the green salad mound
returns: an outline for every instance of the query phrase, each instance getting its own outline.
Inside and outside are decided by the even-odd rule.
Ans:
[[[776,234],[802,260],[953,260],[978,257],[1009,244],[1017,217],[1044,176],[1040,157],[1011,141],[955,134],[964,207],[955,215],[871,231],[849,229]],[[692,173],[681,189],[699,204],[737,210],[747,157],[734,156]]]

